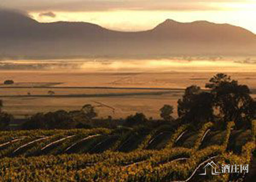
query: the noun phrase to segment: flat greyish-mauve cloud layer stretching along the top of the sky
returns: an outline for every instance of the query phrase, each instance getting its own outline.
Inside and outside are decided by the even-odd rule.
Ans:
[[[216,10],[216,3],[252,3],[253,0],[1,0],[7,8],[25,11],[114,11],[114,10]]]

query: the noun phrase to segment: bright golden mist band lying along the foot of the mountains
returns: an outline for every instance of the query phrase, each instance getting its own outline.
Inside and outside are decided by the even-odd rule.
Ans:
[[[77,70],[77,71],[256,71],[254,58],[176,58],[176,59],[66,59],[4,60],[1,70]]]

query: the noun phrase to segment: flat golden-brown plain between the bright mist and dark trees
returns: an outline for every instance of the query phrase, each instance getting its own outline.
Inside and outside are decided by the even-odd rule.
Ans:
[[[126,117],[143,112],[159,118],[164,104],[177,107],[177,100],[190,85],[204,88],[215,72],[125,72],[125,71],[22,71],[3,70],[0,83],[14,80],[14,85],[0,85],[4,111],[17,117],[59,109],[75,110],[90,103],[101,102],[115,108],[96,108],[100,117]],[[230,72],[232,79],[248,85],[253,97],[256,90],[255,72]],[[48,91],[54,91],[49,95]],[[176,113],[175,113],[176,115]]]

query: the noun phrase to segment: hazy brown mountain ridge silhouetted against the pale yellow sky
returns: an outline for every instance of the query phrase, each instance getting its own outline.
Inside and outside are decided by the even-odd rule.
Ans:
[[[256,35],[230,24],[167,19],[152,30],[119,32],[86,22],[39,23],[0,10],[0,57],[256,55]]]

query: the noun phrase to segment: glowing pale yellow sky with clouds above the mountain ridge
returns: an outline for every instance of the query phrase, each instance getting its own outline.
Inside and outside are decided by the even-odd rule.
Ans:
[[[256,0],[0,0],[0,7],[27,11],[41,22],[86,21],[138,31],[165,19],[230,23],[256,33]]]

